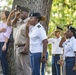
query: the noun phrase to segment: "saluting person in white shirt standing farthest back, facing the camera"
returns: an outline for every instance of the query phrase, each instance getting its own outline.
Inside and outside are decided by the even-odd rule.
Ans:
[[[59,60],[63,50],[59,47],[61,41],[60,30],[56,30],[54,33],[55,37],[48,39],[48,43],[52,44],[52,75],[61,75]]]

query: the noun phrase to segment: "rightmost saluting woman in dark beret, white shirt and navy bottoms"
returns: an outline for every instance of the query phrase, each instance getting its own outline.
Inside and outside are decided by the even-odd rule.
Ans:
[[[64,48],[66,62],[66,75],[76,75],[76,39],[75,28],[68,27],[64,37],[60,42],[60,47]],[[67,40],[66,40],[67,38]]]

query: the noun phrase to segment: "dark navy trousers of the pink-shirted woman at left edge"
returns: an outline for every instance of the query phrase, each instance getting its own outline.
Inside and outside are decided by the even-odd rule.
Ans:
[[[2,51],[2,47],[4,45],[4,42],[0,42],[0,60],[1,60],[1,66],[3,75],[8,75],[8,63],[6,59],[7,49],[6,51]]]

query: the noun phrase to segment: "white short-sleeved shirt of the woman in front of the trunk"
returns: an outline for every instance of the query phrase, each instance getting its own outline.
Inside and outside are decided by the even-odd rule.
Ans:
[[[30,52],[43,52],[44,39],[47,39],[46,31],[40,23],[37,23],[29,32],[30,37]]]

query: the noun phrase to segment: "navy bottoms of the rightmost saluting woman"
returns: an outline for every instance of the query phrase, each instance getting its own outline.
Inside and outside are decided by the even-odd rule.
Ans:
[[[76,75],[76,70],[73,70],[75,64],[75,57],[66,58],[66,75]]]

